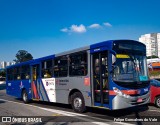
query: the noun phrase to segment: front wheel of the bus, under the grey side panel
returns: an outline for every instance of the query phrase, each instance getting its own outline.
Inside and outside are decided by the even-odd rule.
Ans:
[[[84,98],[80,92],[71,95],[71,105],[75,112],[82,113],[86,110]]]

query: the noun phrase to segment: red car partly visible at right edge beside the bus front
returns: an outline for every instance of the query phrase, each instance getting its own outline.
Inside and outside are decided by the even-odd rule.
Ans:
[[[152,79],[150,84],[150,103],[160,108],[160,81]]]

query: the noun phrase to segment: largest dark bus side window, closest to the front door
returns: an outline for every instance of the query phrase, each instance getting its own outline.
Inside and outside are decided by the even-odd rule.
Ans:
[[[70,76],[87,75],[87,53],[86,52],[70,55],[69,75]]]

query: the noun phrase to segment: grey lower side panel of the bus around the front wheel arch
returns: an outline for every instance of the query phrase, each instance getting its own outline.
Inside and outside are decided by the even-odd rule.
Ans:
[[[91,106],[90,84],[85,85],[87,76],[56,78],[56,102],[68,104],[68,97],[72,90],[82,93],[85,105]]]

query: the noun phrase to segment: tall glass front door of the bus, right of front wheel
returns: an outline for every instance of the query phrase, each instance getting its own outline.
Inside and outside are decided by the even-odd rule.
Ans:
[[[92,94],[94,106],[104,107],[109,103],[108,51],[92,54]]]

